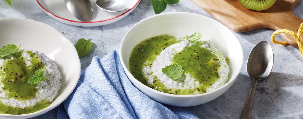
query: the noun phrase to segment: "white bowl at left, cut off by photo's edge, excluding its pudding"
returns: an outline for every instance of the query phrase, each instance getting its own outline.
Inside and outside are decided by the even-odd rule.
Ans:
[[[26,119],[52,110],[75,89],[81,72],[78,53],[65,36],[50,25],[20,18],[0,19],[0,47],[13,43],[20,49],[34,49],[54,60],[62,76],[62,88],[50,106],[21,115],[0,114],[0,119]]]

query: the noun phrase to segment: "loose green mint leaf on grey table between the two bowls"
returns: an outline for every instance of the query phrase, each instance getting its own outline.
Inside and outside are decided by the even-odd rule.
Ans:
[[[89,42],[90,40],[91,39],[79,39],[79,41],[76,43],[75,48],[78,52],[79,57],[87,55],[92,50],[92,46],[94,43]]]

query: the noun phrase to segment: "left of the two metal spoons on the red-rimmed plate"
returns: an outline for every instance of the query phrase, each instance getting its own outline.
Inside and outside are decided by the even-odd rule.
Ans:
[[[65,5],[77,19],[83,22],[91,21],[93,18],[93,7],[90,0],[65,0]]]

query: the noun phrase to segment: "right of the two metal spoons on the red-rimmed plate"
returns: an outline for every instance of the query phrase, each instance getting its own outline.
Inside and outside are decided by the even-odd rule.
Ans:
[[[121,12],[126,10],[122,0],[97,0],[96,5],[107,12]]]

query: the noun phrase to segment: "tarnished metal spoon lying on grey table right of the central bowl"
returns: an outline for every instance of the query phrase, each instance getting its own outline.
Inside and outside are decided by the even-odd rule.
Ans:
[[[270,44],[266,41],[259,42],[252,49],[247,61],[247,73],[254,80],[246,104],[244,106],[241,119],[249,119],[255,89],[259,80],[263,80],[271,73],[274,65],[274,52]]]

